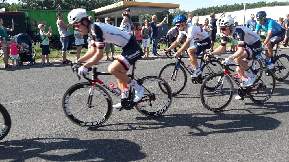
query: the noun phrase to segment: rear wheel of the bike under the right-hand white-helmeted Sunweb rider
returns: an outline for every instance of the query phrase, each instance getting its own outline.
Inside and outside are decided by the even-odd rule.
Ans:
[[[262,73],[263,75],[258,75]],[[255,83],[250,87],[249,98],[253,102],[261,104],[266,102],[274,92],[276,84],[275,75],[268,68],[257,69],[255,75],[257,78]]]

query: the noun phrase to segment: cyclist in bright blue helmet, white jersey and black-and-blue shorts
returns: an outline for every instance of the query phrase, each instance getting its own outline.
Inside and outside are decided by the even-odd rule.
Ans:
[[[185,35],[187,37],[186,42],[175,53],[175,57],[179,57],[182,52],[184,52],[185,49],[189,47],[187,50],[190,56],[189,61],[194,68],[194,73],[191,75],[191,77],[198,77],[202,73],[202,71],[199,68],[199,64],[197,62],[197,56],[203,50],[209,49],[211,47],[210,35],[198,25],[187,24],[186,20],[186,16],[184,15],[175,16],[175,18],[173,19],[173,23],[177,27],[179,35],[177,37],[177,40],[169,48],[164,49],[164,52],[169,52],[174,47],[177,47],[177,45],[179,45],[181,39]],[[198,41],[198,43],[194,44],[195,41]]]

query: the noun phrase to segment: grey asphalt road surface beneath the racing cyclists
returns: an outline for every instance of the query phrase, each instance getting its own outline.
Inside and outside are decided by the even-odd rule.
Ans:
[[[171,62],[162,56],[140,60],[136,76],[158,75]],[[95,66],[107,72],[109,63]],[[164,115],[114,110],[100,127],[85,128],[62,110],[66,89],[85,81],[78,81],[69,66],[0,68],[0,76],[0,102],[12,119],[9,134],[0,141],[1,161],[289,161],[288,78],[277,82],[264,104],[232,100],[217,113],[203,107],[200,85],[188,80]],[[115,83],[111,76],[103,81]]]

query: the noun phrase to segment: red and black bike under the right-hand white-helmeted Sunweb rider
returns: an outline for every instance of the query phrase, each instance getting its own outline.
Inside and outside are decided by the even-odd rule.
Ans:
[[[215,58],[220,61],[224,60],[223,58],[215,56],[211,56],[210,58]],[[231,71],[234,72],[234,70],[230,69],[229,66],[239,65],[222,64],[223,72],[211,74],[204,80],[200,90],[200,97],[205,108],[210,111],[221,111],[226,108],[233,98],[233,82],[237,85],[238,95],[242,100],[244,100],[245,95],[248,95],[253,102],[261,104],[268,101],[272,96],[276,80],[274,73],[270,69],[263,67],[252,70],[256,76],[255,82],[250,87],[242,87],[238,79],[231,73]],[[266,73],[266,75],[263,73]],[[214,89],[208,89],[206,86],[214,86]]]

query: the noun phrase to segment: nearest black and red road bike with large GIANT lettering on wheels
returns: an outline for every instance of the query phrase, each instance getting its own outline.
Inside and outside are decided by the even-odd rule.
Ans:
[[[73,71],[78,71],[78,68],[74,68],[75,66],[72,63],[71,66]],[[111,74],[98,72],[97,68],[91,67],[89,68],[89,74],[92,75],[92,79],[83,75],[88,82],[77,83],[64,93],[62,108],[65,115],[73,123],[82,127],[97,127],[105,123],[112,114],[113,105],[108,91],[121,100],[122,107],[119,111],[123,109],[130,110],[135,107],[140,113],[149,117],[165,113],[172,102],[172,92],[168,83],[157,76],[147,76],[139,79],[134,75],[135,68],[134,64],[132,74],[128,76],[145,88],[140,101],[133,102],[135,91],[132,87],[129,89],[129,97],[127,99],[122,98],[120,94],[98,78],[99,75]],[[77,76],[79,77],[79,75]],[[159,87],[162,87],[162,90]]]

